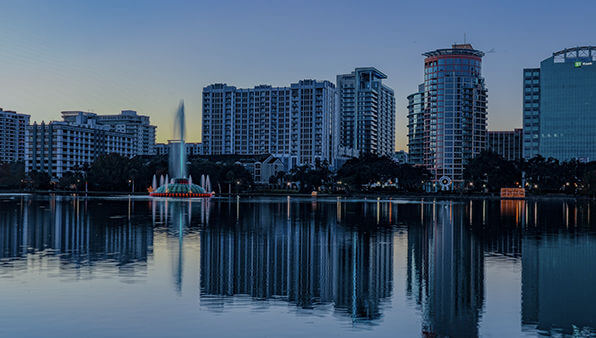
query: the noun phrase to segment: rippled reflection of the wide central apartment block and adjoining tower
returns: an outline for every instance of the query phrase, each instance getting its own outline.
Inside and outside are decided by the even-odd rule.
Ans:
[[[369,203],[288,201],[239,208],[237,219],[217,212],[218,223],[201,234],[202,304],[217,310],[232,296],[250,296],[302,309],[333,304],[354,321],[381,317],[393,278],[386,213],[377,227],[376,206]],[[371,212],[372,222],[364,216]]]

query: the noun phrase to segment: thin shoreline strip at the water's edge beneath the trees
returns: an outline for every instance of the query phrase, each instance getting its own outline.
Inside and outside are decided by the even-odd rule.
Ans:
[[[102,197],[102,196],[149,196],[147,192],[124,192],[124,191],[89,191],[85,192],[73,192],[73,191],[49,191],[49,190],[0,190],[0,194],[28,194],[28,195],[60,195],[60,196],[90,196],[90,197]],[[346,199],[437,199],[437,200],[596,200],[596,197],[585,196],[585,195],[567,195],[567,194],[543,194],[543,195],[526,195],[524,198],[501,198],[498,194],[490,193],[351,193],[351,194],[336,194],[336,193],[318,193],[317,196],[312,196],[309,193],[298,193],[298,192],[240,192],[240,193],[223,193],[215,194],[214,197],[312,197],[312,198],[328,198],[328,197],[341,197]]]

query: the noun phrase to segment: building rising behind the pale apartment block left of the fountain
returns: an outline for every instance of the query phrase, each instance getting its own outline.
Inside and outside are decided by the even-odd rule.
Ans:
[[[79,112],[62,112],[64,121],[71,122],[72,116]],[[110,130],[127,133],[133,136],[135,155],[155,154],[155,128],[151,125],[149,116],[139,115],[134,110],[123,110],[116,115],[91,114],[98,124],[110,126]]]

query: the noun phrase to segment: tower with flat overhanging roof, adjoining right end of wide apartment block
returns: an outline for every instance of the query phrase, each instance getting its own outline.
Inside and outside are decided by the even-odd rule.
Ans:
[[[373,67],[337,76],[342,155],[395,152],[395,94],[383,84],[386,78]]]

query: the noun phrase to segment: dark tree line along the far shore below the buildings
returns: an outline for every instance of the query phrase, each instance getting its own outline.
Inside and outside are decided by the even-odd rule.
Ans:
[[[189,158],[188,173],[198,182],[209,175],[216,193],[257,190],[351,192],[422,192],[431,180],[430,173],[420,167],[398,164],[389,157],[364,154],[352,158],[333,172],[328,163],[299,166],[289,172],[278,172],[269,185],[255,185],[251,173],[233,157],[210,160]],[[144,192],[151,186],[153,175],[168,174],[167,156],[118,154],[99,156],[92,164],[66,172],[52,179],[45,172],[25,174],[22,163],[0,164],[1,189],[132,191]],[[502,187],[523,187],[533,194],[566,193],[596,194],[596,162],[576,160],[560,162],[536,156],[530,160],[508,161],[496,153],[485,151],[465,166],[463,191],[498,193]]]

